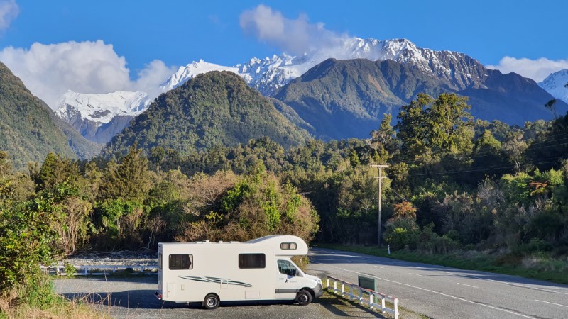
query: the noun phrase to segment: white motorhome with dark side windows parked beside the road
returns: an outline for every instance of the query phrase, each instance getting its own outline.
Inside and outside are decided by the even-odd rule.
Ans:
[[[290,300],[307,305],[322,296],[322,281],[302,272],[293,256],[307,245],[293,235],[271,235],[248,242],[158,244],[158,291],[163,301],[202,302]]]

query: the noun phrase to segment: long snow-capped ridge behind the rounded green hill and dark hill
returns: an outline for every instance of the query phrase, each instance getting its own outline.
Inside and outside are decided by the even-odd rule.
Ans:
[[[254,89],[262,94],[271,96],[280,87],[292,79],[300,77],[308,69],[320,62],[333,57],[336,59],[395,60],[406,65],[430,73],[435,77],[446,79],[457,89],[479,86],[481,79],[486,77],[485,69],[477,60],[452,51],[435,51],[422,49],[406,39],[376,40],[348,38],[333,49],[320,50],[300,57],[290,55],[274,55],[258,59],[253,57],[244,65],[225,67],[212,63],[192,62],[180,67],[161,88],[168,91],[180,86],[187,80],[200,73],[231,71],[239,74]]]

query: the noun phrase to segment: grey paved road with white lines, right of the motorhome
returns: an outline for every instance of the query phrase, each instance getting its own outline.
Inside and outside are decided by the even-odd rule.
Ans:
[[[379,292],[430,318],[568,318],[565,285],[328,249],[312,248],[310,260],[317,276],[373,276]]]

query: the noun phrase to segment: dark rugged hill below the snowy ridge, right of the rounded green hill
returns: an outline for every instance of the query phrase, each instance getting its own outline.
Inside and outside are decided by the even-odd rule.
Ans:
[[[439,79],[393,60],[328,59],[284,86],[276,99],[288,104],[324,140],[368,138],[383,113],[417,93],[436,96],[449,91]]]

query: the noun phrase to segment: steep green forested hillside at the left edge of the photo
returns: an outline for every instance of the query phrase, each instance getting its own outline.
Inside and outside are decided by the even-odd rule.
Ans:
[[[30,161],[43,162],[49,152],[77,158],[53,117],[50,108],[0,62],[0,150],[8,152],[16,169]]]

